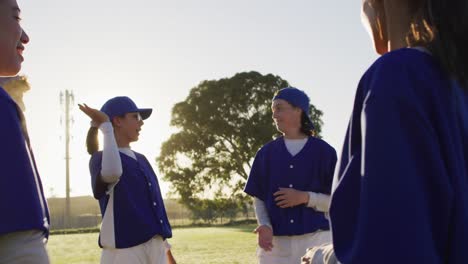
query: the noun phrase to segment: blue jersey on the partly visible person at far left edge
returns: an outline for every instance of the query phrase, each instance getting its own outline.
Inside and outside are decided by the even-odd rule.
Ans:
[[[0,235],[25,230],[49,233],[49,210],[34,155],[21,129],[16,103],[0,87]],[[24,120],[23,120],[24,122]]]

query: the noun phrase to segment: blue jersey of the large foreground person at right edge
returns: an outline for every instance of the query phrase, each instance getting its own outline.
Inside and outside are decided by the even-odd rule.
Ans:
[[[466,263],[468,95],[415,49],[362,77],[330,207],[343,263]]]

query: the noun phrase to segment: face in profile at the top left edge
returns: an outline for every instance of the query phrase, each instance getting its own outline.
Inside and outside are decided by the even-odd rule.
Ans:
[[[16,0],[0,0],[0,75],[18,74],[23,62],[28,35],[20,26],[20,9]]]

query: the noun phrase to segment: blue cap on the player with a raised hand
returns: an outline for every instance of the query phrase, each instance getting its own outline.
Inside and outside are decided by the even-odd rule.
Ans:
[[[138,108],[132,99],[127,96],[117,96],[109,99],[102,107],[101,111],[109,116],[109,120],[112,120],[116,116],[122,116],[126,113],[140,113],[141,118],[147,119],[153,109],[151,108]]]

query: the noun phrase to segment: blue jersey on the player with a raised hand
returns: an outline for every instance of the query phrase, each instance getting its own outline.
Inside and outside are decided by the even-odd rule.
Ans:
[[[113,188],[115,248],[133,247],[155,235],[172,237],[156,174],[145,156],[135,155],[137,160],[120,153],[123,173]],[[93,194],[104,217],[110,195],[106,194],[108,184],[101,179],[101,163],[102,152],[96,152],[89,167]],[[102,247],[101,237],[99,245]]]

